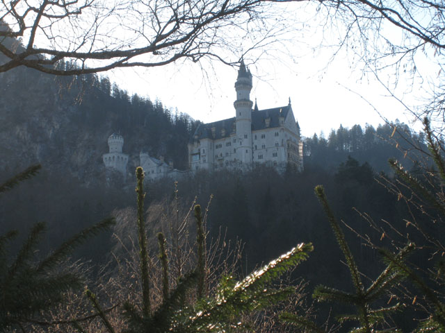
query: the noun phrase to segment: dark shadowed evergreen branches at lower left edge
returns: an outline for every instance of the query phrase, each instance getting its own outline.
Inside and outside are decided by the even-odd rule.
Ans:
[[[35,165],[18,173],[0,185],[0,193],[32,178],[39,170],[40,165]],[[44,234],[45,223],[36,223],[31,228],[14,259],[8,255],[6,244],[17,237],[18,232],[12,230],[0,236],[0,331],[13,327],[24,330],[33,316],[62,301],[66,291],[82,287],[81,276],[64,269],[63,262],[74,248],[112,224],[113,219],[105,219],[76,234],[42,259],[35,259],[35,250]]]

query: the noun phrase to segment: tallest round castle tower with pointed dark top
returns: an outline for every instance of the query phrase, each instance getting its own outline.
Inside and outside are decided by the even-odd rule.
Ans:
[[[236,101],[236,160],[241,164],[252,164],[252,74],[245,68],[244,60],[238,70],[235,83]]]

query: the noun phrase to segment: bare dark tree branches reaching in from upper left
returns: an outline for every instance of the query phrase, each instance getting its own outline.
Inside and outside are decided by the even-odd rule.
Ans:
[[[265,16],[263,0],[3,0],[0,72],[26,66],[88,74],[202,57],[229,63],[229,32],[246,37],[264,26]],[[273,40],[278,25],[247,49]]]

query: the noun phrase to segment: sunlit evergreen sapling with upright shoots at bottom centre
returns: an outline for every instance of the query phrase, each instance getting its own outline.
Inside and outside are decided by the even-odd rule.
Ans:
[[[143,227],[143,169],[136,169],[138,185],[138,239],[140,241],[140,262],[147,258],[147,247],[144,245],[145,229]],[[243,327],[240,321],[242,314],[258,311],[281,300],[285,300],[295,292],[295,287],[282,287],[275,289],[271,282],[307,259],[312,251],[312,244],[299,244],[289,253],[273,260],[258,271],[254,271],[243,280],[237,281],[234,276],[223,277],[216,292],[211,296],[204,294],[204,244],[205,233],[202,224],[202,212],[200,205],[195,205],[195,219],[197,221],[197,265],[189,273],[182,275],[176,287],[168,290],[168,260],[165,253],[165,237],[158,235],[159,250],[163,274],[163,302],[156,309],[148,309],[145,297],[149,299],[148,272],[144,265],[140,264],[140,274],[143,289],[143,309],[131,302],[123,305],[124,316],[127,318],[127,332],[229,332],[236,327]],[[143,244],[141,246],[141,243]],[[143,250],[144,249],[144,250]],[[148,287],[147,287],[148,286]],[[147,289],[145,289],[147,288]],[[184,302],[186,296],[197,291],[197,299],[189,298],[191,302]],[[99,314],[104,314],[97,299],[88,294],[93,306]],[[106,316],[106,315],[104,315]],[[114,328],[109,327],[109,321],[102,318],[108,332],[113,333]]]

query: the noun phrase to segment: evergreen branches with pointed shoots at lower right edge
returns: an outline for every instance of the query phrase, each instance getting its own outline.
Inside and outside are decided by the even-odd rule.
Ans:
[[[378,253],[380,253],[386,267],[377,278],[369,282],[368,287],[365,287],[365,283],[362,281],[353,253],[351,253],[343,231],[327,203],[323,187],[317,186],[315,188],[316,196],[318,196],[325,210],[337,243],[346,259],[354,291],[351,293],[333,287],[318,286],[313,297],[318,301],[353,305],[356,310],[355,314],[340,314],[337,317],[341,323],[346,321],[358,323],[358,326],[350,332],[399,332],[396,327],[387,327],[385,318],[391,312],[403,311],[403,316],[408,319],[411,313],[407,310],[410,307],[415,307],[416,303],[419,303],[419,306],[415,309],[423,311],[426,316],[419,321],[419,327],[414,332],[445,332],[445,264],[442,258],[435,259],[440,257],[441,253],[442,255],[445,253],[445,247],[442,243],[443,223],[445,221],[445,197],[443,194],[445,184],[445,159],[443,154],[445,150],[444,143],[433,134],[429,119],[424,119],[423,124],[429,155],[435,168],[428,169],[423,175],[417,168],[417,175],[428,177],[421,181],[414,177],[412,173],[403,169],[396,160],[389,160],[389,164],[396,174],[397,182],[389,183],[387,189],[394,193],[398,200],[405,200],[410,207],[414,207],[421,212],[422,218],[416,219],[414,212],[411,211],[411,219],[405,219],[405,223],[407,228],[410,225],[414,226],[414,232],[412,233],[419,234],[421,237],[416,238],[419,241],[425,241],[425,243],[416,246],[411,241],[413,236],[410,235],[410,232],[403,234],[402,230],[397,230],[395,225],[391,225],[391,230],[405,239],[407,245],[396,246],[396,249],[398,249],[396,253],[387,248],[378,248]],[[393,133],[395,132],[396,128],[394,128]],[[382,238],[384,237],[385,233],[382,234]],[[392,244],[395,245],[394,243],[395,241],[392,239]],[[369,241],[369,245],[375,247],[371,241]],[[423,258],[421,267],[419,264],[410,261],[409,258],[414,253]],[[426,257],[428,257],[428,260],[425,260]],[[430,262],[435,264],[430,265]],[[407,297],[412,297],[412,299],[405,304],[399,302],[393,307],[382,307],[381,305],[386,303],[383,298],[387,294],[391,295],[387,303],[393,297],[401,301],[406,300]],[[323,328],[304,316],[286,313],[282,314],[281,318],[283,321],[293,323],[309,332],[325,332]]]

